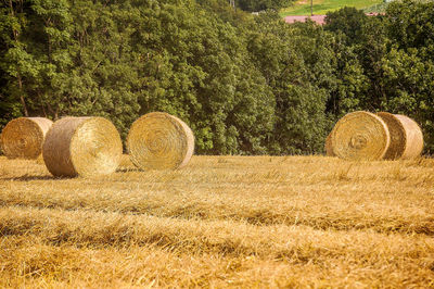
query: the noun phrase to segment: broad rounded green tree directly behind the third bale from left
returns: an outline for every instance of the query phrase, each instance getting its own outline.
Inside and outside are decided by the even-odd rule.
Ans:
[[[135,51],[142,112],[186,120],[200,153],[264,153],[272,129],[273,98],[248,62],[235,27],[194,3],[144,11]],[[145,33],[144,33],[145,32]]]

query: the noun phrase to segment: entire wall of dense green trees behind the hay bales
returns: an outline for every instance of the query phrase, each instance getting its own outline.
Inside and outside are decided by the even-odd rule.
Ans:
[[[285,1],[242,1],[246,10]],[[184,120],[203,154],[320,153],[354,110],[405,113],[434,149],[434,3],[321,27],[224,0],[2,0],[0,127],[21,115]]]

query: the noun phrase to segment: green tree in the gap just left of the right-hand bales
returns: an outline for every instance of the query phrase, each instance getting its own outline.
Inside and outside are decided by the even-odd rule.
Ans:
[[[327,37],[312,22],[288,25],[273,13],[261,14],[256,23],[247,47],[276,98],[269,150],[319,152],[328,126],[326,88],[333,81]]]

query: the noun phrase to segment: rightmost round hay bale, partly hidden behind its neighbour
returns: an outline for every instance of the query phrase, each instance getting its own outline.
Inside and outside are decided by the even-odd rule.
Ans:
[[[386,160],[414,159],[423,150],[423,134],[419,125],[408,116],[379,112],[391,134],[391,144],[384,155]]]

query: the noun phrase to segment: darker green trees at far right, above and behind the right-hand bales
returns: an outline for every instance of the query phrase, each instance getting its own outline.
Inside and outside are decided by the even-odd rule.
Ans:
[[[342,34],[366,77],[357,108],[413,117],[434,151],[434,2],[392,2],[384,15],[344,9],[328,15],[326,30]]]

